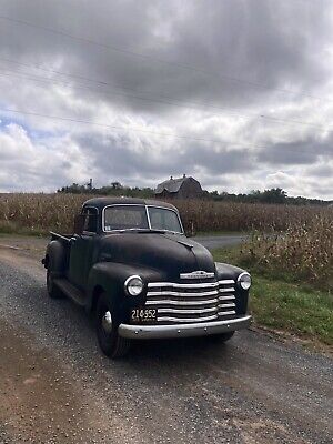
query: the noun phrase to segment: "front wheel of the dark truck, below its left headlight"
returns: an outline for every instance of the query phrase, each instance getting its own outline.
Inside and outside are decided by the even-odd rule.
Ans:
[[[109,357],[124,356],[131,342],[118,334],[118,324],[110,297],[102,293],[99,297],[95,313],[97,335],[102,352]]]

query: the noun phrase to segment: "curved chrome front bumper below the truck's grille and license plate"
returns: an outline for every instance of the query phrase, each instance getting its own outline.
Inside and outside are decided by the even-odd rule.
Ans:
[[[140,340],[205,336],[206,334],[219,334],[248,329],[251,323],[251,315],[245,315],[243,317],[236,317],[228,321],[223,320],[175,325],[120,324],[118,333],[122,337]]]

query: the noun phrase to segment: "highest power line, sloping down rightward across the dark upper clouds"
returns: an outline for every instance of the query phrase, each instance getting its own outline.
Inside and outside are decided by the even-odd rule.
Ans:
[[[31,23],[31,22],[28,22],[26,20],[14,19],[12,17],[0,16],[0,20],[10,21],[10,22],[16,23],[16,24],[22,24],[22,26],[26,26],[26,27],[40,29],[40,30],[43,30],[43,31],[47,31],[47,32],[51,32],[53,34],[63,36],[63,37],[67,37],[67,38],[73,39],[73,40],[78,40],[78,41],[81,41],[81,42],[84,42],[84,43],[98,46],[98,47],[103,48],[103,49],[108,49],[108,50],[111,50],[111,51],[124,53],[127,56],[137,57],[137,58],[145,59],[145,60],[152,60],[152,61],[155,61],[155,62],[161,63],[161,64],[168,64],[168,65],[181,68],[183,70],[189,70],[189,71],[193,71],[193,72],[200,72],[200,73],[203,73],[205,75],[216,77],[216,78],[229,80],[229,81],[236,82],[236,83],[240,83],[240,84],[248,84],[248,85],[256,88],[256,89],[265,89],[265,90],[278,91],[278,92],[283,92],[283,93],[287,93],[287,94],[303,95],[303,97],[307,97],[310,99],[315,99],[315,100],[323,100],[323,101],[327,101],[329,100],[330,101],[330,99],[317,97],[317,95],[313,95],[313,94],[309,94],[309,93],[306,93],[304,91],[291,91],[291,90],[285,90],[285,89],[281,89],[281,88],[271,88],[270,85],[263,84],[263,83],[260,83],[260,82],[253,82],[253,81],[245,80],[245,79],[239,79],[239,78],[231,77],[231,75],[215,73],[215,72],[212,72],[212,71],[208,71],[208,70],[204,70],[204,69],[201,69],[201,68],[196,68],[196,67],[192,67],[192,65],[184,64],[184,63],[171,62],[171,61],[159,59],[159,58],[155,58],[155,57],[152,57],[152,56],[149,56],[149,54],[142,54],[140,52],[135,52],[135,51],[131,51],[131,50],[128,50],[128,49],[122,49],[122,48],[119,48],[119,47],[114,47],[114,46],[111,46],[111,44],[98,42],[98,41],[94,41],[94,40],[91,40],[91,39],[87,39],[87,38],[81,37],[81,36],[74,36],[74,34],[71,34],[70,32],[67,32],[67,31],[61,31],[61,30],[58,30],[58,29],[54,29],[54,28],[49,28],[49,27],[44,27],[44,26],[41,26],[41,24]]]

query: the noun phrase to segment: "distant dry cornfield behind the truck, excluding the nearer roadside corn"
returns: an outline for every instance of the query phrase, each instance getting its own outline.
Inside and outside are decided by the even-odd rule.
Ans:
[[[0,194],[0,231],[70,233],[74,215],[91,194]],[[184,226],[191,231],[285,231],[320,215],[332,219],[332,209],[245,204],[211,201],[176,201]]]

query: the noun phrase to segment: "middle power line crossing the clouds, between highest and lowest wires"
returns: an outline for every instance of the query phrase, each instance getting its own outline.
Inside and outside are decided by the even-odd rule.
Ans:
[[[1,61],[1,59],[0,59]],[[3,71],[0,71],[0,75],[3,77],[11,77],[13,75],[12,73],[14,73],[14,75],[19,75],[26,79],[30,79],[32,81],[36,82],[41,82],[41,83],[46,83],[46,82],[51,82],[53,84],[63,84],[63,85],[71,85],[71,83],[65,83],[62,80],[61,81],[54,81],[53,79],[49,79],[49,78],[43,78],[43,77],[36,77],[36,75],[31,75],[28,74],[26,72],[22,71],[14,71],[11,69],[6,68],[7,71],[10,71],[11,73],[7,73]],[[49,70],[48,70],[49,71]],[[105,84],[110,84],[110,83],[105,83]],[[131,99],[135,99],[135,100],[142,100],[142,101],[147,101],[147,102],[157,102],[157,103],[163,103],[167,105],[171,105],[171,107],[176,107],[176,108],[184,108],[184,109],[191,109],[191,110],[199,110],[199,111],[203,111],[203,108],[213,108],[215,110],[221,110],[221,111],[229,111],[229,114],[233,114],[233,115],[238,115],[242,119],[264,119],[264,120],[269,120],[272,121],[274,123],[289,123],[289,124],[301,124],[301,125],[306,125],[306,127],[312,127],[315,129],[321,129],[321,130],[326,130],[332,128],[332,125],[320,125],[316,123],[312,123],[312,122],[304,122],[304,121],[300,121],[300,120],[292,120],[292,119],[283,119],[283,118],[275,118],[275,117],[271,117],[271,115],[266,115],[266,114],[254,114],[254,113],[243,113],[243,112],[239,112],[238,109],[232,109],[232,108],[226,108],[226,107],[211,107],[211,105],[202,105],[202,108],[198,108],[194,107],[192,103],[182,103],[182,102],[172,102],[170,100],[173,99],[169,99],[169,101],[167,100],[161,100],[161,99],[154,99],[154,98],[147,98],[147,97],[141,97],[141,95],[133,95],[133,94],[127,94],[123,92],[118,92],[118,91],[101,91],[101,90],[97,90],[93,89],[91,87],[88,85],[82,85],[79,83],[79,87],[77,84],[74,84],[77,89],[79,90],[83,90],[83,91],[93,91],[93,92],[102,92],[103,94],[108,94],[108,95],[121,95],[121,97],[128,97]],[[118,87],[115,87],[115,89],[120,89]],[[213,115],[218,115],[218,114],[213,114]]]

